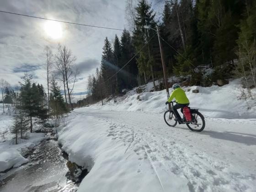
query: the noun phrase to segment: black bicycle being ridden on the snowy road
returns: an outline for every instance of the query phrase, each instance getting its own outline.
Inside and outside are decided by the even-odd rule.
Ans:
[[[173,103],[175,101],[171,101],[171,107],[169,110],[167,110],[164,114],[164,119],[165,119],[165,123],[170,126],[170,127],[175,127],[176,124],[178,123],[178,121],[175,121],[176,115],[172,110],[173,107]],[[192,121],[187,121],[184,114],[183,114],[183,118],[181,119],[181,122],[179,122],[180,124],[186,124],[187,127],[191,130],[191,131],[196,131],[196,132],[201,132],[203,131],[204,127],[205,127],[205,120],[203,115],[198,112],[198,109],[190,109],[190,113],[192,116]]]

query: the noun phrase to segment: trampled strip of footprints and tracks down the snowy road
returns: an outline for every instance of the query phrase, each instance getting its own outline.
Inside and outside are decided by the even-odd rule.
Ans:
[[[129,117],[126,114],[126,118],[129,121],[129,118],[133,119],[134,117]],[[184,140],[182,140],[182,138],[184,139],[183,134],[195,134],[188,129],[186,130],[187,132],[184,132],[183,129],[173,128],[171,130],[171,136],[169,136],[170,134],[167,133],[170,131],[165,132],[163,128],[159,127],[155,129],[155,126],[151,126],[151,124],[150,126],[143,126],[145,123],[136,123],[136,121],[129,121],[129,124],[126,124],[122,118],[118,121],[115,119],[114,122],[116,130],[111,136],[128,144],[128,147],[124,152],[125,154],[128,150],[134,150],[137,155],[139,155],[138,153],[140,150],[144,151],[163,190],[165,189],[160,180],[160,176],[157,173],[157,169],[154,165],[155,163],[150,160],[152,155],[155,156],[157,162],[164,165],[160,160],[164,158],[164,154],[169,154],[166,155],[169,160],[166,159],[164,161],[168,162],[167,165],[164,165],[165,169],[170,170],[176,175],[185,176],[190,191],[225,191],[230,189],[229,187],[235,191],[251,189],[246,185],[246,182],[248,179],[255,180],[255,176],[244,176],[238,172],[232,172],[230,165],[224,163],[223,160],[213,158],[197,148],[194,149],[191,147],[192,145],[186,146],[186,142],[184,143]],[[135,139],[134,134],[139,134],[141,137]],[[120,137],[118,138],[117,136]],[[145,140],[149,142],[146,142]],[[150,147],[150,153],[147,152],[147,149],[144,149],[144,143]],[[155,153],[156,151],[154,151],[155,149],[153,148],[159,150],[160,153]],[[170,160],[172,160],[171,163],[169,162]]]

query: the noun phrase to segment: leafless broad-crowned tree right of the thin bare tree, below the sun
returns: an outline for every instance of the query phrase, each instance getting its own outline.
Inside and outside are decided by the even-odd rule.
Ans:
[[[72,55],[72,52],[66,46],[62,46],[59,44],[58,53],[56,54],[56,60],[57,60],[57,69],[59,69],[59,72],[63,75],[64,91],[65,91],[65,85],[66,85],[67,91],[68,91],[69,103],[71,105],[71,110],[74,110],[73,104],[71,102],[71,92],[73,88],[72,90],[70,90],[69,83],[70,83],[70,80],[74,78],[74,75],[77,74],[77,73],[74,73],[73,71],[73,66],[74,66],[76,57]],[[75,80],[76,80],[76,75],[75,75]]]

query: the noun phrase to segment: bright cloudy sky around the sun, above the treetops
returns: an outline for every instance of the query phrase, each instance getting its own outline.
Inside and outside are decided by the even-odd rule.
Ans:
[[[0,0],[0,11],[124,29],[125,5],[125,0]],[[113,42],[122,33],[7,13],[0,13],[0,26],[0,79],[15,86],[27,72],[47,88],[44,48],[55,54],[60,43],[77,58],[75,95],[86,94],[87,78],[100,66],[105,37]]]

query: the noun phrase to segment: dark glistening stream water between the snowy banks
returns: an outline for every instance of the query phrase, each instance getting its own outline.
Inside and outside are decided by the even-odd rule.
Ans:
[[[26,157],[29,163],[0,175],[0,192],[76,192],[57,141],[43,141]]]

